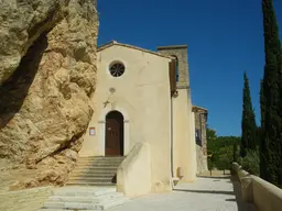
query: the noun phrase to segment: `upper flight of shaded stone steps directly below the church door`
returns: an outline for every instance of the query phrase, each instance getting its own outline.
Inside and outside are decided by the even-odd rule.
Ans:
[[[115,186],[117,169],[124,157],[80,157],[67,186]]]

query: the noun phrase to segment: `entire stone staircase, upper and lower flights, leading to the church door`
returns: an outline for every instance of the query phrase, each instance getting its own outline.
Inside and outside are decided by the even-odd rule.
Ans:
[[[53,191],[42,211],[106,210],[128,200],[117,192],[117,169],[124,157],[80,157],[65,187]]]

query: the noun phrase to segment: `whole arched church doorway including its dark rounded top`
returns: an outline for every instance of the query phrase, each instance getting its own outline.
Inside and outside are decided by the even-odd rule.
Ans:
[[[123,155],[123,115],[111,111],[106,115],[105,155]]]

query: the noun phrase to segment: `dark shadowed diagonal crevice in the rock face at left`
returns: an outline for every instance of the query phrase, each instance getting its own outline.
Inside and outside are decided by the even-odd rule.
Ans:
[[[44,33],[28,49],[12,76],[0,86],[0,129],[22,108],[46,47],[47,37]]]

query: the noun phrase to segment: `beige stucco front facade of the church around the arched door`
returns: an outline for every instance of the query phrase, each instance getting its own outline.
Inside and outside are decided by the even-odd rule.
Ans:
[[[120,60],[126,73],[115,78],[109,65]],[[97,87],[93,96],[95,113],[89,123],[96,135],[85,134],[80,156],[105,155],[105,118],[118,110],[124,118],[124,154],[138,142],[148,142],[152,153],[152,191],[171,190],[171,98],[170,58],[113,45],[98,53]],[[109,89],[116,92],[110,93]],[[110,103],[104,108],[104,102]]]

